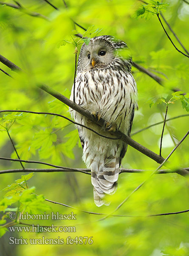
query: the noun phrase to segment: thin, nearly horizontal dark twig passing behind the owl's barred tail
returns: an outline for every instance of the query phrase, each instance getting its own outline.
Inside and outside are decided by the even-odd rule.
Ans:
[[[189,172],[189,168],[184,168],[186,171]],[[62,168],[49,168],[49,169],[34,169],[34,168],[25,168],[23,169],[9,169],[9,170],[0,170],[0,174],[4,173],[17,173],[17,172],[82,172],[84,174],[90,175],[90,169],[85,168],[69,168],[63,167]],[[119,169],[119,174],[121,173],[145,173],[145,172],[152,172],[152,170],[141,170],[141,169]],[[155,174],[168,174],[168,173],[177,173],[177,170],[169,170],[169,169],[162,169],[157,171]]]

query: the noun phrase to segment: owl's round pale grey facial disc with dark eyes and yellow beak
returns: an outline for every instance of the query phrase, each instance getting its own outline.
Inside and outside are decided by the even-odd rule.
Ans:
[[[82,70],[87,71],[110,64],[115,58],[115,49],[110,42],[101,38],[84,45],[80,55]]]

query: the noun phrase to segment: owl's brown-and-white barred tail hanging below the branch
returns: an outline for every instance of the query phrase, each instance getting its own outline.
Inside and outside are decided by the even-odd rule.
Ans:
[[[108,157],[104,163],[91,165],[91,182],[94,186],[94,202],[100,207],[109,205],[104,196],[112,195],[117,189],[119,157]]]

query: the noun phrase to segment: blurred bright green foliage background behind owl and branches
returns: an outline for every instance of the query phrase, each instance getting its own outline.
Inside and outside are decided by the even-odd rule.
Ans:
[[[169,3],[163,13],[186,49],[189,50],[189,4],[182,0],[163,1]],[[2,3],[2,2],[0,2]],[[8,1],[14,3],[14,1]],[[74,78],[75,46],[62,45],[63,40],[71,40],[73,30],[84,31],[74,27],[72,19],[85,27],[93,26],[93,31],[102,29],[99,35],[113,35],[127,42],[133,61],[149,69],[164,79],[164,87],[144,73],[133,67],[133,76],[138,85],[139,110],[135,112],[132,132],[164,119],[166,105],[155,104],[151,108],[149,102],[154,97],[169,95],[172,87],[188,92],[189,59],[177,52],[168,40],[156,15],[136,18],[136,10],[140,8],[138,0],[53,0],[54,9],[43,0],[20,0],[22,9],[0,6],[0,54],[21,67],[25,72],[15,73],[0,63],[0,68],[8,72],[14,79],[0,72],[0,110],[44,111],[63,114],[70,118],[68,107],[52,96],[43,92],[37,84],[48,86],[69,97]],[[148,1],[150,3],[150,1]],[[45,17],[31,16],[37,12]],[[169,31],[175,45],[182,49]],[[93,34],[92,34],[93,35]],[[79,45],[81,47],[81,44]],[[78,50],[79,50],[78,47]],[[167,118],[187,114],[181,102],[169,105]],[[18,154],[24,160],[39,160],[54,165],[71,168],[85,168],[82,162],[82,148],[77,131],[73,124],[57,116],[34,114],[6,113],[1,114],[0,124],[12,124],[9,129]],[[14,122],[15,119],[15,122]],[[14,122],[14,124],[13,124]],[[162,156],[166,157],[174,143],[186,134],[189,118],[181,117],[167,122],[164,131]],[[17,158],[10,139],[4,128],[0,128],[0,156]],[[134,135],[132,138],[150,150],[159,152],[162,124]],[[189,139],[170,157],[174,168],[189,167]],[[154,170],[158,164],[144,154],[128,147],[122,162],[124,168]],[[27,168],[49,168],[37,164],[24,164]],[[0,170],[20,169],[19,162],[0,160]],[[90,175],[79,172],[39,172],[28,180],[28,187],[35,187],[37,195],[67,204],[72,207],[91,212],[112,212],[150,172],[143,174],[124,173],[119,176],[118,190],[111,196],[111,204],[98,208],[93,203],[93,186]],[[0,190],[14,183],[23,173],[0,174]],[[7,191],[0,193],[1,200]],[[20,194],[22,195],[22,193]],[[24,198],[24,196],[22,197]],[[31,198],[30,198],[31,200]],[[36,200],[36,198],[35,198]],[[18,200],[19,201],[19,200]],[[29,201],[29,200],[28,200]],[[119,215],[133,217],[109,217],[98,221],[102,216],[79,212],[75,209],[39,202],[33,207],[23,200],[23,211],[33,213],[74,212],[76,220],[40,220],[23,221],[27,224],[42,226],[75,226],[76,232],[35,233],[9,232],[0,239],[2,256],[24,255],[73,255],[73,256],[188,256],[189,255],[189,218],[188,213],[156,217],[134,217],[164,212],[177,212],[189,208],[189,179],[176,173],[154,175],[139,189],[117,212]],[[40,208],[41,204],[41,208]],[[1,201],[1,216],[4,215]],[[11,207],[17,207],[17,202]],[[24,207],[28,208],[24,208]],[[46,207],[46,208],[45,208]],[[7,222],[8,218],[6,219]],[[1,223],[3,224],[3,223]],[[18,226],[18,225],[17,225]],[[93,236],[93,244],[9,244],[9,237],[24,239],[66,239]]]

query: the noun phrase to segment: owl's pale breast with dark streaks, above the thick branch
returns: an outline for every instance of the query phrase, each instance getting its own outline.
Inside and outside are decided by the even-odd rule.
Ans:
[[[130,116],[133,105],[136,107],[136,93],[133,76],[127,71],[91,70],[76,76],[76,103],[90,112],[99,112],[107,122],[117,121],[118,126],[120,120],[125,119],[117,127],[121,130],[130,121],[127,116]]]

